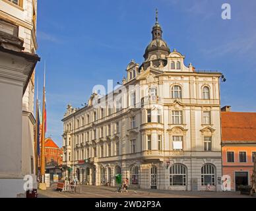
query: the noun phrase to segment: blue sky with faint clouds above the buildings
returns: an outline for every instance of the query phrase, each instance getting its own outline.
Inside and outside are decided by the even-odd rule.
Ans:
[[[231,20],[221,18],[223,3],[231,5]],[[256,1],[38,1],[36,77],[42,98],[46,60],[46,135],[59,146],[67,104],[82,107],[94,85],[121,82],[131,59],[143,62],[156,8],[164,40],[185,55],[185,65],[224,73],[222,106],[256,111]]]

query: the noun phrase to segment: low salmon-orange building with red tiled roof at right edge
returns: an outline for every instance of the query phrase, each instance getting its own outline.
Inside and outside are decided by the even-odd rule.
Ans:
[[[256,113],[234,112],[222,107],[222,173],[230,176],[232,191],[251,185],[256,154]],[[256,162],[254,160],[254,162]]]

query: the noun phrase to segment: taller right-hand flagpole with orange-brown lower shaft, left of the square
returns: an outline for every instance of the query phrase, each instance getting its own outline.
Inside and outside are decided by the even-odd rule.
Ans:
[[[46,183],[45,183],[45,173],[46,173],[46,161],[45,161],[45,151],[44,151],[44,139],[45,139],[45,119],[44,119],[44,112],[46,107],[46,62],[44,62],[44,90],[43,90],[43,113],[42,113],[42,135],[41,135],[41,183],[40,189],[46,190]]]

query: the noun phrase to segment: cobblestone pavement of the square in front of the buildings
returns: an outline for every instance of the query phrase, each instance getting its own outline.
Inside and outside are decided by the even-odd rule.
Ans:
[[[114,187],[82,185],[81,193],[67,193],[56,191],[49,187],[46,191],[38,190],[38,198],[244,198],[253,197],[240,195],[238,192],[209,192],[209,191],[168,191],[129,189],[128,193],[117,193]]]

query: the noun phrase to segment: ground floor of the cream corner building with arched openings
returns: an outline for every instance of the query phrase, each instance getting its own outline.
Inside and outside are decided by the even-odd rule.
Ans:
[[[69,169],[72,169],[71,171]],[[121,173],[129,185],[141,189],[177,191],[221,191],[221,158],[169,158],[167,160],[115,160],[77,162],[65,168],[63,177],[88,185],[116,186],[115,175]]]

